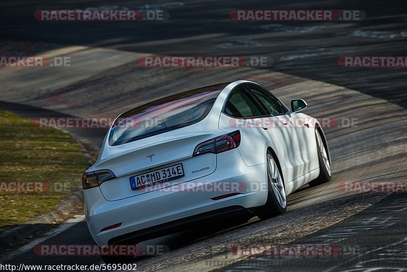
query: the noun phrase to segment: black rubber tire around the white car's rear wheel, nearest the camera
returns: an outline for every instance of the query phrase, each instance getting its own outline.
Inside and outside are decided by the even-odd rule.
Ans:
[[[267,155],[270,155],[274,159],[274,161],[276,163],[276,166],[277,166],[276,170],[278,170],[279,175],[281,177],[283,187],[284,187],[284,195],[285,195],[284,178],[283,178],[283,176],[281,174],[280,164],[279,164],[276,156],[272,152],[270,152],[269,150],[267,151]],[[268,159],[267,163],[269,163],[269,159]],[[270,180],[269,176],[270,175],[267,175],[267,177],[268,177],[268,179],[267,179],[267,181],[268,181],[267,182],[268,183],[268,194],[267,194],[266,204],[259,207],[259,208],[257,208],[257,210],[256,210],[257,217],[260,220],[266,220],[266,219],[269,219],[270,217],[283,214],[287,210],[287,201],[285,199],[285,196],[284,196],[285,206],[283,207],[279,203],[279,201],[277,200],[276,194],[273,191],[273,187],[271,185],[272,180]]]

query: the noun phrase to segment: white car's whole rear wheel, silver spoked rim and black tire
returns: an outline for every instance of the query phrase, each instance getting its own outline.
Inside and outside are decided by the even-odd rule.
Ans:
[[[261,220],[282,214],[287,210],[284,180],[278,161],[270,151],[267,151],[267,180],[267,201],[257,210],[257,216]]]

